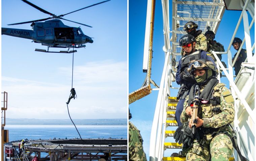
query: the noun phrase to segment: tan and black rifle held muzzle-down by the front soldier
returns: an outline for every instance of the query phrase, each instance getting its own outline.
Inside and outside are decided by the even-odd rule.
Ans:
[[[200,95],[200,88],[199,85],[195,86],[195,94],[194,94],[194,101],[193,101],[193,113],[192,113],[192,133],[195,133],[196,124],[197,124],[197,112],[198,112],[198,106],[200,104],[200,101],[198,99]]]

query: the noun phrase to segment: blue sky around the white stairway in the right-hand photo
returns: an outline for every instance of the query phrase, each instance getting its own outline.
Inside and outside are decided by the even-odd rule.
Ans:
[[[171,17],[171,5],[170,17]],[[147,1],[135,1],[129,0],[129,93],[139,89],[146,77],[146,73],[142,72],[143,63],[143,49],[144,49],[144,38],[145,38],[145,24],[147,14]],[[221,20],[220,26],[215,36],[215,40],[224,45],[225,51],[228,48],[230,39],[235,30],[237,21],[241,11],[230,11],[226,10]],[[249,23],[252,18],[249,15]],[[151,78],[160,85],[163,65],[164,65],[164,52],[162,47],[164,46],[163,41],[163,20],[162,20],[162,4],[161,1],[156,1],[155,10],[155,23],[154,23],[154,36],[153,36],[153,59],[152,59],[152,72]],[[171,27],[170,19],[170,27]],[[239,25],[236,37],[243,40],[244,38],[244,26],[243,21]],[[252,45],[254,43],[254,25],[251,30]],[[170,29],[172,30],[172,29]],[[245,45],[244,45],[245,48]],[[236,51],[231,47],[232,56]],[[255,53],[255,52],[254,52]],[[222,56],[222,61],[227,61],[227,56]],[[222,78],[222,83],[229,85],[226,78]],[[176,83],[174,87],[179,87]],[[153,85],[152,85],[153,86]],[[154,86],[152,88],[155,88]],[[177,90],[171,90],[171,96],[177,96]],[[140,130],[142,138],[144,140],[143,147],[146,152],[147,158],[149,159],[149,145],[150,145],[150,132],[152,121],[155,112],[155,106],[157,101],[158,91],[153,91],[150,95],[135,101],[129,105],[132,113],[132,119],[130,120]],[[172,152],[171,152],[172,153]],[[170,153],[170,154],[171,154]],[[168,152],[165,156],[170,156]]]

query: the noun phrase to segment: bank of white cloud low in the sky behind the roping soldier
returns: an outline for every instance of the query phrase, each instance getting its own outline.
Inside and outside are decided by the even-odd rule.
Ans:
[[[69,118],[66,103],[70,84],[69,68],[58,68],[58,79],[52,82],[2,76],[2,91],[8,92],[8,118]],[[127,62],[105,60],[74,66],[73,87],[77,99],[71,100],[72,119],[126,118]]]

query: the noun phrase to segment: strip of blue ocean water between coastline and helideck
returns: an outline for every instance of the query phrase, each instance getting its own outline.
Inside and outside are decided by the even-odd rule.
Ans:
[[[127,139],[126,125],[76,125],[82,139]],[[6,125],[9,142],[22,139],[80,138],[74,125]]]

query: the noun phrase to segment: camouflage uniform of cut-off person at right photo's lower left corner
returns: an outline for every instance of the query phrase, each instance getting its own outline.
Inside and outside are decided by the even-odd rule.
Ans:
[[[142,147],[143,140],[139,130],[129,122],[129,160],[147,161],[146,154]]]

